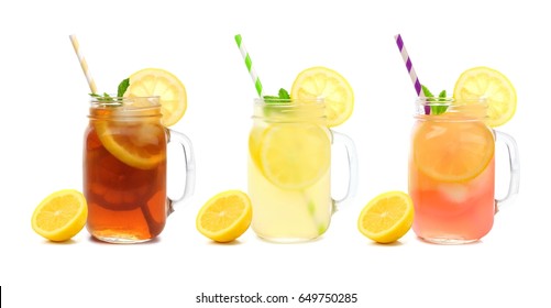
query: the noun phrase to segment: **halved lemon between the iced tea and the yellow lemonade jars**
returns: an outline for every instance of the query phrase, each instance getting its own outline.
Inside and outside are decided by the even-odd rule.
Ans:
[[[241,190],[222,191],[210,198],[199,210],[197,230],[216,242],[231,242],[251,226],[251,199]]]

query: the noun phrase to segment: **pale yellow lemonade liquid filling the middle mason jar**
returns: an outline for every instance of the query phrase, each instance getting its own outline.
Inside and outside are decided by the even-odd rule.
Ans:
[[[252,228],[263,239],[316,239],[329,227],[331,140],[322,103],[255,105],[249,138]]]

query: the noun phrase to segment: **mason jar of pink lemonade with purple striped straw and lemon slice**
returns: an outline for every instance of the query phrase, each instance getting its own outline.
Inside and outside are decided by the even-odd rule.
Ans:
[[[478,241],[502,205],[518,193],[518,146],[513,136],[493,129],[515,114],[515,87],[504,74],[478,66],[460,75],[453,98],[445,90],[434,96],[419,81],[401,35],[395,40],[418,96],[408,178],[414,231],[438,244]],[[496,141],[505,143],[509,158],[503,199],[494,196]]]

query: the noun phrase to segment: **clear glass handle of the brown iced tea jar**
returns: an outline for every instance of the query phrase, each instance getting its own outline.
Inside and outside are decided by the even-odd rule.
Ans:
[[[167,130],[168,142],[176,142],[181,146],[181,151],[184,152],[185,164],[186,164],[186,186],[184,187],[184,191],[181,195],[176,198],[167,198],[167,216],[174,212],[174,205],[177,202],[181,202],[185,199],[189,198],[194,194],[195,189],[195,156],[194,150],[191,146],[191,141],[183,133]]]

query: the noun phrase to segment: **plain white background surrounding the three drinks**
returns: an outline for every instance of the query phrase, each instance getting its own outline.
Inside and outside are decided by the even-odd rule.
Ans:
[[[548,11],[541,1],[2,1],[0,4],[0,285],[2,307],[549,307]],[[194,142],[196,194],[141,245],[109,245],[86,230],[53,244],[31,229],[35,206],[81,189],[88,86],[68,40],[76,33],[101,91],[161,67],[188,90],[173,129]],[[246,189],[253,84],[241,33],[267,92],[322,65],[348,78],[355,110],[337,131],[360,157],[359,191],[321,239],[280,245],[249,230],[213,244],[195,229],[212,195]],[[401,33],[421,79],[451,94],[478,65],[515,84],[518,110],[500,131],[520,147],[520,194],[480,243],[438,246],[409,232],[378,245],[360,234],[363,206],[407,190],[415,91],[394,42]],[[498,157],[505,165],[504,155]],[[337,163],[334,163],[337,164]],[[507,173],[498,170],[503,194]],[[170,179],[170,178],[169,178]],[[170,191],[178,185],[173,180]],[[334,190],[343,179],[333,177]],[[338,194],[338,193],[335,193]],[[200,305],[201,293],[356,293],[357,304]]]

